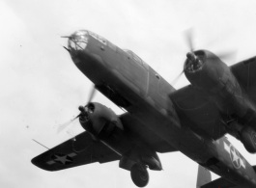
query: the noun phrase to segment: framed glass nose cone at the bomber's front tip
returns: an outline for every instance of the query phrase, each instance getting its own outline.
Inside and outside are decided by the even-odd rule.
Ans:
[[[69,39],[69,49],[71,52],[84,50],[87,46],[88,39],[88,32],[86,30],[76,31]]]

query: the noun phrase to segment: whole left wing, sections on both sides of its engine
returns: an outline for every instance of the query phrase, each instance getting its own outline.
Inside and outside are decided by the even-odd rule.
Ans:
[[[127,134],[138,142],[149,145],[157,152],[177,151],[128,113],[119,118]],[[95,162],[106,163],[120,159],[121,156],[112,149],[107,148],[100,141],[93,140],[88,132],[83,132],[75,136],[75,141],[70,139],[33,158],[32,163],[46,171],[59,171]]]

